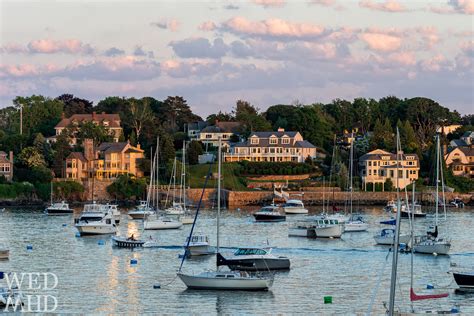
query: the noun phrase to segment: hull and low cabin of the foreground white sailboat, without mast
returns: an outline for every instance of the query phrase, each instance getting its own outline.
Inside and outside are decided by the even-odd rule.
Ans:
[[[250,275],[246,271],[179,272],[178,277],[187,288],[194,290],[268,291],[273,284],[273,278]]]

